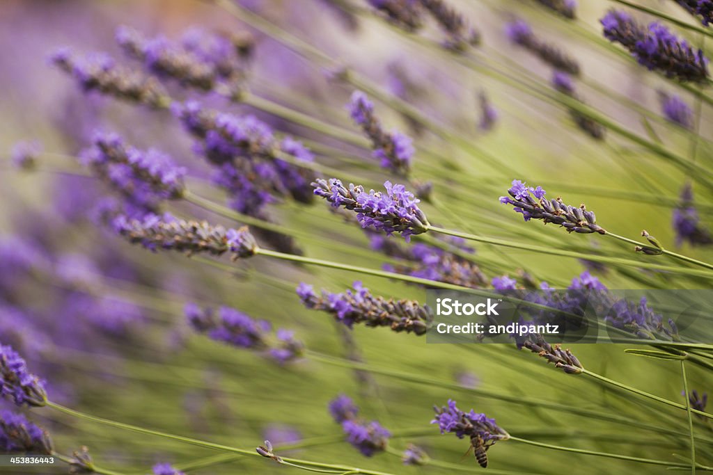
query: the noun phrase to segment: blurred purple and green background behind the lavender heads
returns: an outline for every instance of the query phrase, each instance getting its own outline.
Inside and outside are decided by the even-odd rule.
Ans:
[[[120,25],[145,34],[179,38],[188,28],[247,32],[255,41],[248,66],[247,90],[287,108],[358,135],[347,104],[357,89],[335,78],[349,67],[412,105],[448,131],[434,133],[415,124],[388,103],[376,101],[381,121],[415,139],[413,176],[434,182],[434,197],[447,214],[431,204],[424,210],[432,222],[498,239],[572,249],[629,260],[674,265],[665,256],[635,254],[631,246],[601,236],[568,235],[553,226],[523,223],[498,203],[512,179],[542,184],[565,202],[586,202],[597,220],[617,234],[638,239],[642,229],[674,248],[672,210],[679,190],[690,179],[659,156],[609,131],[593,140],[574,124],[556,100],[516,88],[503,77],[523,81],[532,90],[551,90],[552,70],[523,48],[513,46],[504,31],[508,21],[527,20],[542,38],[577,58],[581,77],[575,81],[585,103],[638,137],[644,137],[710,166],[712,120],[709,103],[697,94],[711,92],[685,86],[652,73],[628,53],[601,36],[598,24],[612,1],[582,0],[578,19],[556,16],[535,1],[456,1],[453,6],[479,28],[483,45],[466,56],[438,47],[442,33],[432,22],[424,31],[406,34],[387,24],[356,0],[245,0],[242,6],[270,19],[285,31],[316,46],[334,59],[326,67],[307,61],[264,32],[235,18],[219,5],[183,0],[4,0],[0,4],[0,341],[14,345],[30,367],[48,380],[53,400],[108,419],[190,435],[233,447],[251,448],[270,438],[273,444],[324,438],[314,447],[284,452],[304,459],[349,464],[394,474],[446,473],[456,468],[404,466],[398,456],[371,459],[344,442],[327,403],[347,394],[364,416],[378,419],[394,432],[391,447],[419,444],[434,459],[465,471],[480,468],[468,456],[466,441],[441,436],[433,404],[458,401],[496,417],[519,437],[567,447],[677,461],[687,456],[688,440],[652,430],[573,414],[528,401],[548,401],[605,416],[625,416],[642,424],[686,431],[684,412],[652,405],[585,377],[565,375],[536,355],[510,345],[426,345],[424,338],[395,334],[386,328],[347,332],[330,315],[305,309],[294,288],[299,282],[343,291],[352,281],[378,295],[424,300],[424,289],[384,278],[336,269],[294,266],[258,257],[230,264],[234,270],[206,266],[180,254],[132,246],[91,219],[106,194],[100,182],[82,172],[76,160],[96,129],[113,130],[138,147],[157,147],[188,167],[195,189],[215,202],[225,202],[207,184],[210,169],[192,150],[191,138],[169,111],[149,110],[97,94],[83,93],[76,83],[48,64],[50,53],[69,46],[78,53],[106,51],[123,63],[114,41]],[[673,1],[638,1],[696,24]],[[351,9],[349,6],[358,6]],[[631,13],[642,21],[652,18]],[[695,45],[699,33],[678,29]],[[711,43],[710,39],[708,43]],[[465,59],[464,59],[465,58]],[[470,66],[469,66],[470,65]],[[493,74],[495,71],[498,74]],[[282,134],[304,139],[319,150],[317,161],[350,177],[366,177],[379,187],[388,178],[369,150],[304,127],[248,104],[230,103],[168,83],[177,98],[199,98],[213,108],[251,113]],[[485,91],[498,110],[492,130],[478,128],[478,95]],[[680,95],[697,111],[696,131],[667,122],[660,93]],[[403,112],[403,111],[401,111]],[[453,139],[453,137],[458,137]],[[44,153],[31,172],[12,167],[10,150],[21,140],[39,140]],[[695,145],[694,145],[695,144]],[[496,160],[492,160],[496,157]],[[454,169],[457,168],[457,169]],[[711,189],[694,183],[699,214],[707,223]],[[177,202],[170,210],[215,224],[235,222],[192,204]],[[307,256],[381,268],[389,261],[369,249],[358,226],[329,212],[283,202],[272,217],[311,236],[297,239]],[[489,277],[520,276],[563,288],[585,270],[577,259],[530,251],[476,245]],[[710,259],[704,246],[685,244],[681,252]],[[30,264],[28,264],[28,262]],[[609,288],[709,288],[707,278],[642,271],[636,266],[602,266],[595,271]],[[232,306],[273,325],[295,330],[307,348],[325,355],[354,357],[372,372],[328,365],[305,357],[277,365],[264,357],[195,334],[185,322],[183,306],[193,301]],[[352,343],[347,343],[349,341]],[[588,369],[634,387],[683,402],[677,362],[626,355],[620,345],[576,345],[573,351]],[[391,373],[391,374],[389,374]],[[396,375],[396,376],[395,376]],[[401,375],[401,377],[399,377]],[[409,381],[416,375],[422,382]],[[707,390],[710,376],[691,367],[692,387]],[[215,455],[206,449],[146,437],[66,417],[49,409],[32,411],[51,432],[56,447],[70,453],[88,446],[96,463],[124,474],[149,473],[158,461],[177,466]],[[675,429],[675,430],[674,430]],[[697,422],[702,438],[699,461],[711,462],[708,424]],[[319,442],[319,441],[317,441]],[[558,452],[515,442],[498,443],[488,452],[491,468],[522,473],[664,473],[665,468],[627,461]],[[290,469],[267,459],[243,457],[195,473],[283,473]],[[56,472],[64,473],[66,469]],[[20,473],[0,467],[0,473]],[[39,473],[39,472],[34,472]],[[41,473],[45,473],[44,471]]]

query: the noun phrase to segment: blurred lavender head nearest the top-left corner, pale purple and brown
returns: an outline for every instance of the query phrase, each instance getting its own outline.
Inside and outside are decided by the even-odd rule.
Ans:
[[[50,61],[62,71],[73,75],[83,90],[97,90],[102,94],[153,108],[165,108],[170,103],[168,94],[156,78],[118,66],[106,54],[94,53],[77,58],[67,48],[63,48],[54,53]]]

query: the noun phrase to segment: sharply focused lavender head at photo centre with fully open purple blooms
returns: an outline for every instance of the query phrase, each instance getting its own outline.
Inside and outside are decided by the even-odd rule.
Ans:
[[[361,185],[349,184],[344,187],[336,178],[317,179],[312,182],[314,194],[332,203],[335,208],[344,207],[356,212],[356,219],[364,228],[385,231],[390,235],[398,232],[409,241],[411,235],[428,231],[429,221],[416,205],[419,199],[406,191],[402,184],[384,182],[386,193],[368,193]]]

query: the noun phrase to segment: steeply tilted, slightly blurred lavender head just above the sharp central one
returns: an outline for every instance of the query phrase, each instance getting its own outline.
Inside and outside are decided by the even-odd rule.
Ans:
[[[379,119],[374,115],[374,104],[360,90],[356,90],[352,94],[349,113],[356,125],[359,125],[364,130],[366,137],[371,140],[374,157],[379,159],[381,167],[396,173],[407,174],[411,167],[411,158],[414,156],[411,138],[398,130],[386,132],[381,127]]]

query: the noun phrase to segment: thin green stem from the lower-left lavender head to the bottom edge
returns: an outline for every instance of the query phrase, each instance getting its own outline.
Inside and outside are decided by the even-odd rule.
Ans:
[[[191,437],[183,437],[183,436],[180,436],[177,434],[169,434],[168,432],[160,432],[160,431],[156,431],[153,429],[145,429],[144,427],[138,427],[138,426],[134,426],[131,424],[125,424],[123,422],[113,421],[111,419],[104,419],[103,417],[96,417],[91,414],[85,414],[84,412],[79,412],[74,409],[70,409],[69,407],[64,407],[61,404],[56,404],[55,402],[51,402],[51,401],[47,402],[46,407],[55,409],[58,412],[63,412],[64,414],[68,414],[68,415],[70,415],[72,417],[76,417],[78,419],[84,419],[84,420],[87,420],[90,422],[95,422],[97,424],[108,425],[110,427],[115,427],[116,429],[123,429],[123,430],[127,430],[130,432],[137,432],[139,434],[145,434],[145,435],[150,435],[150,436],[154,436],[154,437],[163,437],[165,439],[175,440],[176,442],[181,442],[183,444],[190,444],[190,445],[195,445],[196,447],[203,447],[205,449],[213,449],[213,450],[218,450],[218,451],[232,452],[234,454],[258,456],[258,457],[262,458],[262,455],[258,454],[254,449],[252,449],[252,450],[237,449],[236,447],[230,447],[230,446],[222,445],[222,444],[215,444],[213,442],[207,442],[205,440],[193,439]],[[368,469],[357,469],[354,467],[335,465],[335,464],[323,464],[321,462],[314,462],[314,461],[302,460],[302,459],[292,459],[292,458],[288,458],[288,457],[282,457],[282,460],[287,462],[287,464],[289,464],[291,466],[296,466],[297,468],[300,468],[300,469],[305,469],[306,466],[309,466],[309,467],[318,467],[318,468],[322,468],[322,469],[331,469],[332,470],[327,473],[342,473],[344,471],[353,471],[356,474],[364,474],[364,475],[392,475],[392,474],[387,474],[386,472],[381,472],[381,471],[373,471],[373,470],[368,470]]]

